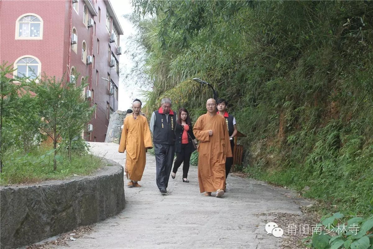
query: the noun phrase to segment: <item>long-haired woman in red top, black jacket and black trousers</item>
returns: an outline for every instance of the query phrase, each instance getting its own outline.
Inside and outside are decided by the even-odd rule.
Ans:
[[[186,111],[185,108],[179,109],[178,118],[176,119],[175,135],[176,160],[175,164],[173,165],[171,177],[172,179],[175,179],[176,172],[178,171],[181,163],[184,161],[183,182],[189,183],[189,161],[192,152],[195,150],[193,143],[197,144],[197,140],[195,140],[192,123],[190,121],[188,111]]]

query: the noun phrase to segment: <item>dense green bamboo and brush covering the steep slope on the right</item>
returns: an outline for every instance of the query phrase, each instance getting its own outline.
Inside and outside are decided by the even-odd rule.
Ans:
[[[153,91],[195,120],[215,86],[252,177],[367,214],[373,204],[372,1],[142,1]],[[152,18],[148,18],[152,15]]]

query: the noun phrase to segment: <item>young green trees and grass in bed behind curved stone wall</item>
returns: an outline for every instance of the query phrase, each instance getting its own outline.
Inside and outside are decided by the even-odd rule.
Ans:
[[[56,175],[67,175],[77,162],[87,164],[87,173],[97,167],[87,161],[87,145],[80,138],[95,108],[82,96],[85,84],[46,75],[13,78],[13,72],[12,65],[1,65],[2,184],[43,180],[57,165]],[[69,172],[81,172],[81,166]]]

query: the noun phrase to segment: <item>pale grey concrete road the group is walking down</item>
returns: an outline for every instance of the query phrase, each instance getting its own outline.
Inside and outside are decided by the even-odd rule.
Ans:
[[[96,155],[125,164],[114,143],[90,143]],[[127,188],[126,208],[94,225],[94,233],[69,241],[70,248],[253,248],[277,249],[283,238],[264,231],[271,212],[299,214],[299,198],[263,182],[228,176],[222,198],[199,193],[197,167],[182,182],[182,168],[170,178],[168,194],[156,185],[156,162],[147,154],[140,188]],[[213,193],[214,195],[214,193]],[[307,203],[305,203],[307,204]],[[286,228],[283,227],[284,232]],[[58,248],[66,249],[60,246]]]

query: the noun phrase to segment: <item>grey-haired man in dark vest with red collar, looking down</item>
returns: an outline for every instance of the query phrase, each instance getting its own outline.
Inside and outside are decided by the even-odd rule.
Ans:
[[[171,99],[163,98],[158,111],[151,114],[150,131],[153,133],[156,154],[157,186],[162,194],[167,193],[168,180],[175,156],[176,116],[171,110]]]

